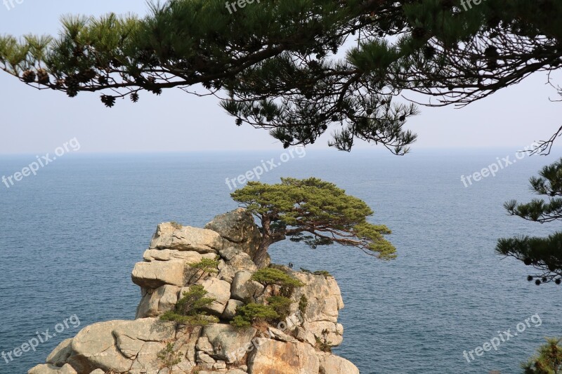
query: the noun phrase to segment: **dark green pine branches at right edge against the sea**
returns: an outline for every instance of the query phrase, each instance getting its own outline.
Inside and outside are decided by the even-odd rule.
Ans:
[[[562,159],[544,166],[539,177],[530,178],[530,187],[544,199],[533,199],[529,203],[515,200],[504,204],[510,215],[516,215],[533,222],[562,220]],[[525,265],[540,270],[539,274],[528,276],[529,281],[562,283],[562,232],[555,232],[546,238],[516,236],[499,239],[496,251],[521,260]]]

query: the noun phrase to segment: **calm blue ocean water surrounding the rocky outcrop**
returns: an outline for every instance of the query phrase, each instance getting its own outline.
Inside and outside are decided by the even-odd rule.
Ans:
[[[0,373],[26,373],[90,323],[133,319],[140,292],[131,270],[156,225],[202,226],[236,208],[226,178],[272,157],[280,165],[261,180],[335,182],[369,203],[372,222],[393,230],[398,258],[391,262],[340,246],[270,248],[274,262],[336,277],[346,304],[336,354],[362,374],[520,373],[519,363],[545,336],[562,335],[562,289],[529,283],[530,269],[496,255],[494,247],[502,236],[557,229],[509,217],[502,208],[508,199],[531,199],[528,178],[554,156],[525,157],[469,187],[460,180],[497,157],[513,161],[516,150],[414,149],[405,157],[379,151],[67,154],[9,189],[0,185],[0,351],[21,347],[36,333],[45,338],[47,329],[55,334],[35,352],[0,358]],[[0,176],[34,159],[0,156]],[[498,332],[516,333],[525,319],[525,330],[497,351],[471,362],[463,357]]]

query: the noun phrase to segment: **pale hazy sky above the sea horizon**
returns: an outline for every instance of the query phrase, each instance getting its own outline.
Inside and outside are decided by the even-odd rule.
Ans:
[[[0,33],[17,36],[56,34],[63,14],[143,15],[147,8],[140,0],[14,0],[8,10],[1,1]],[[557,98],[556,91],[545,83],[546,76],[536,74],[464,109],[421,107],[421,115],[407,123],[419,135],[414,148],[524,147],[550,138],[561,126],[561,104],[549,101]],[[79,140],[81,152],[282,149],[267,131],[235,126],[216,98],[174,89],[161,96],[141,93],[136,105],[118,100],[107,109],[98,93],[70,99],[0,72],[0,109],[0,154],[47,152],[71,138]],[[328,140],[324,135],[311,148],[327,148]]]

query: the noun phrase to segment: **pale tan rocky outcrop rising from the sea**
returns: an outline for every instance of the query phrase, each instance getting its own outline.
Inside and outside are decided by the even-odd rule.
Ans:
[[[143,262],[132,273],[142,296],[136,319],[86,326],[28,373],[359,373],[353,363],[330,353],[342,341],[337,317],[344,302],[329,274],[275,267],[302,284],[290,295],[287,318],[248,328],[230,324],[237,308],[264,304],[275,293],[275,287],[252,279],[258,269],[251,255],[260,237],[254,219],[242,208],[218,215],[204,229],[158,225]],[[216,271],[201,274],[190,267],[203,259],[218,262]],[[204,312],[218,323],[162,320],[196,284],[212,299]]]

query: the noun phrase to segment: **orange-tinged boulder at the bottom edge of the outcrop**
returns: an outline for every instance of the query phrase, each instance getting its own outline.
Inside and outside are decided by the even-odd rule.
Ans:
[[[250,352],[250,374],[318,374],[320,361],[315,350],[301,342],[264,339]]]

